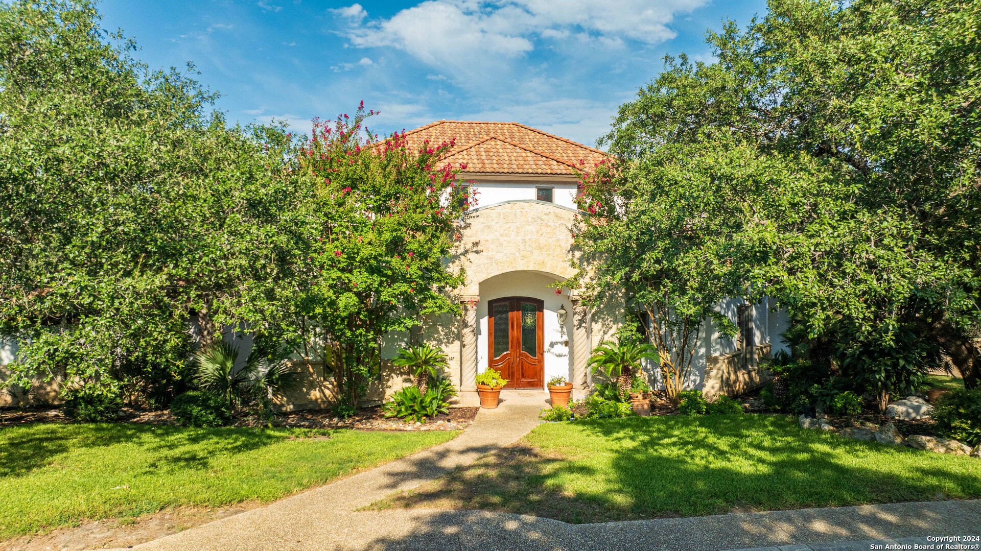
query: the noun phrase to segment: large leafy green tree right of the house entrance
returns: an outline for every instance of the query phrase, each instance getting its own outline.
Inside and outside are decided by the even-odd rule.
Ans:
[[[619,159],[608,192],[640,187],[681,225],[676,241],[680,221],[724,225],[659,262],[695,287],[718,272],[777,297],[811,335],[833,335],[838,369],[880,402],[938,352],[976,386],[979,18],[977,2],[772,0],[747,29],[709,33],[717,61],[668,59],[621,107],[603,139]],[[664,200],[696,181],[723,212]],[[624,243],[634,254],[609,270],[647,273],[649,254]]]

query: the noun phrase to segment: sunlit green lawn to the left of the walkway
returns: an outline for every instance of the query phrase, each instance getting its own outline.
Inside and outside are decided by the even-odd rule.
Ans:
[[[170,506],[270,501],[455,435],[133,424],[2,428],[0,540]]]

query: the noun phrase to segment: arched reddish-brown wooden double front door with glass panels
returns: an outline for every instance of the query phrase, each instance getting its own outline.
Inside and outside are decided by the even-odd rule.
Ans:
[[[544,384],[544,301],[513,296],[488,303],[488,365],[507,379],[505,388]]]

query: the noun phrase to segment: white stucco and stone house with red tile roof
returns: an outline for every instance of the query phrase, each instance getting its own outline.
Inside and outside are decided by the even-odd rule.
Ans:
[[[462,404],[478,402],[475,377],[488,367],[509,380],[507,389],[543,394],[550,377],[566,376],[574,384],[574,397],[584,396],[592,384],[586,368],[590,351],[613,336],[623,321],[623,305],[592,311],[576,289],[556,283],[578,270],[571,255],[577,168],[593,166],[606,154],[517,123],[439,121],[405,137],[415,147],[454,140],[443,160],[466,166],[461,177],[473,182],[477,201],[460,222],[458,251],[447,259],[465,269],[466,281],[454,293],[462,316],[431,317],[412,334],[390,335],[383,359],[394,357],[407,342],[439,345],[449,357],[449,375]],[[701,327],[689,386],[711,396],[759,384],[764,377],[759,358],[783,347],[777,335],[786,328],[786,318],[773,306],[766,300],[720,304],[719,311],[740,327],[740,334],[730,339],[710,322]],[[0,377],[15,352],[13,343],[0,343]],[[323,367],[307,369],[304,387],[289,396],[285,409],[333,404]],[[647,372],[653,376],[654,370]],[[384,370],[369,389],[369,399],[385,400],[404,383],[404,374]],[[44,391],[46,399],[56,395],[50,386]],[[0,394],[0,406],[15,400]]]

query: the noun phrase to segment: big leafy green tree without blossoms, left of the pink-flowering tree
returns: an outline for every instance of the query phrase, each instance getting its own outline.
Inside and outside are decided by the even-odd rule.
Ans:
[[[278,128],[151,72],[88,2],[0,4],[0,333],[13,376],[125,386],[166,404],[189,315],[261,329],[292,280],[302,201]]]

